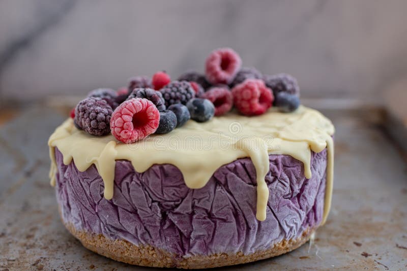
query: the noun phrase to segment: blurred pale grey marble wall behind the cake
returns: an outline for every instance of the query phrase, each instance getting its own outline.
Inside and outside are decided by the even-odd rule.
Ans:
[[[176,77],[229,46],[245,65],[296,76],[303,96],[376,103],[407,77],[406,11],[404,0],[2,0],[0,98]]]

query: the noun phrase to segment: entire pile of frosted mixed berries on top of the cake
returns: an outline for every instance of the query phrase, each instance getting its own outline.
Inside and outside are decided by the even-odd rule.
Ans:
[[[133,143],[152,133],[168,133],[192,119],[205,122],[235,107],[247,116],[260,115],[276,106],[293,112],[300,106],[297,80],[288,74],[262,75],[254,67],[242,67],[230,48],[212,51],[205,74],[187,71],[176,81],[166,72],[152,78],[135,76],[127,87],[92,90],[71,111],[77,129],[93,136],[111,133]]]

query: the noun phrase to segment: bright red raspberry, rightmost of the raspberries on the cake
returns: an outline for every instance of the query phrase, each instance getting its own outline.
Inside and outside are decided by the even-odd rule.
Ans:
[[[269,109],[273,92],[259,79],[247,79],[232,89],[235,107],[244,115],[260,115]]]

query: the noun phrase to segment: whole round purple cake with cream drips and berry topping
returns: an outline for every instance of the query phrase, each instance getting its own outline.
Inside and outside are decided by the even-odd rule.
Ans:
[[[84,247],[130,264],[209,268],[292,251],[325,223],[333,184],[331,121],[316,110],[290,103],[299,93],[286,82],[274,86],[277,91],[268,82],[273,77],[249,76],[233,83],[242,68],[239,61],[226,60],[223,70],[237,66],[223,77],[208,75],[207,60],[203,80],[215,87],[207,87],[201,96],[223,90],[212,91],[216,93],[206,99],[191,97],[185,106],[183,100],[173,101],[178,105],[173,107],[176,122],[182,122],[181,109],[190,112],[191,119],[181,126],[171,125],[168,110],[157,111],[159,121],[154,122],[157,100],[151,98],[154,92],[145,90],[154,87],[152,82],[141,86],[150,104],[136,95],[118,101],[111,111],[99,111],[106,113],[104,121],[110,121],[110,127],[81,122],[78,116],[85,115],[79,103],[74,118],[56,128],[48,142],[51,184],[56,187],[62,222]],[[199,82],[197,78],[191,82]],[[274,78],[284,83],[291,77]],[[155,91],[165,94],[162,89],[170,84],[161,80],[161,90]],[[231,91],[226,84],[233,86]],[[257,100],[268,103],[263,112],[242,107],[239,93],[250,89],[252,94],[260,89]],[[222,103],[229,103],[225,90],[232,94],[235,109],[225,110],[220,101],[211,99],[221,97]],[[261,91],[271,94],[265,98]],[[91,98],[92,103],[111,108],[102,96]],[[166,104],[168,99],[161,97]],[[130,141],[118,129],[122,125],[118,114],[125,119],[123,112],[137,103],[144,103],[147,111],[151,105],[154,109],[149,111],[151,121],[142,130],[144,136],[157,127]],[[127,128],[137,129],[134,119],[130,121],[133,126]],[[99,134],[109,128],[109,133]]]

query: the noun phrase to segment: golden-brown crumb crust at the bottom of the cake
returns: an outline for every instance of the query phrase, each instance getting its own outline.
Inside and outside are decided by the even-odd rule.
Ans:
[[[310,239],[311,234],[316,230],[316,227],[307,229],[297,239],[283,240],[270,249],[257,251],[249,255],[238,252],[234,254],[218,253],[182,257],[152,246],[134,245],[126,240],[112,240],[106,238],[103,234],[77,230],[70,223],[64,224],[85,248],[113,260],[141,266],[185,269],[235,265],[278,256],[295,250],[306,243]]]

